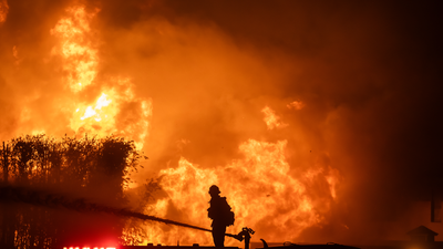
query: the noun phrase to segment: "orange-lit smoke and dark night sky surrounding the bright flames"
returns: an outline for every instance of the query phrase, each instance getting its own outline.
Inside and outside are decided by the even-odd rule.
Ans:
[[[97,51],[97,74],[78,95],[63,86],[62,59],[51,55],[58,40],[50,30],[72,4],[100,9],[80,42]],[[114,84],[109,79],[128,75],[136,100],[125,102],[127,113],[140,117],[133,106],[142,100],[153,105],[144,141],[150,170],[140,178],[182,156],[210,168],[241,158],[238,146],[247,139],[286,139],[293,177],[313,163],[341,176],[329,221],[300,238],[399,238],[420,225],[443,232],[441,224],[430,224],[425,203],[432,188],[443,189],[436,1],[8,6],[0,23],[0,138],[72,134],[66,100],[91,103]],[[295,101],[305,107],[288,108]],[[287,126],[269,129],[265,106]],[[116,126],[128,127],[123,120]]]

